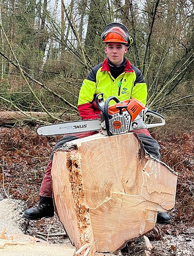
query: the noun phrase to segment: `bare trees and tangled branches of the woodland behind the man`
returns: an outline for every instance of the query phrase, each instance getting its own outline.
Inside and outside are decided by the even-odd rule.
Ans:
[[[105,57],[101,32],[118,21],[134,37],[127,58],[146,79],[148,108],[165,116],[166,132],[192,130],[193,2],[0,0],[0,5],[1,111],[21,111],[29,120],[26,111],[44,111],[50,122],[78,113],[82,81]]]

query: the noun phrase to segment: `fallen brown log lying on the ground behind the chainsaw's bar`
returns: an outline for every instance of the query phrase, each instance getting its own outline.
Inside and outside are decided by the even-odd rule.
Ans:
[[[25,112],[27,115],[30,115],[32,119],[29,119],[23,113],[19,111],[0,111],[0,125],[5,124],[14,124],[16,122],[33,122],[33,119],[38,120],[41,119],[43,121],[50,120],[51,118],[48,117],[47,113],[45,112]],[[61,118],[65,121],[74,121],[79,119],[79,115],[77,114],[64,114],[62,113],[56,113],[55,116],[57,118]]]

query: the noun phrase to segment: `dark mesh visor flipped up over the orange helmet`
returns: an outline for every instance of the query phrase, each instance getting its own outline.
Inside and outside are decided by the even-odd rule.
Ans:
[[[125,41],[128,41],[129,39],[129,31],[123,24],[117,22],[108,24],[102,31],[101,38],[104,39],[104,37],[106,37],[106,35],[110,32],[121,35]]]

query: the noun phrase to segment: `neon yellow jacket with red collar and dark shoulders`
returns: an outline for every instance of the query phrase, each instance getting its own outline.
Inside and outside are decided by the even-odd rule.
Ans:
[[[120,101],[138,99],[144,105],[147,98],[147,87],[141,71],[127,60],[125,69],[116,79],[110,73],[108,59],[97,65],[84,79],[79,92],[78,111],[83,119],[99,118],[100,110],[95,104],[97,94],[104,94],[104,101],[116,96]],[[110,101],[110,105],[115,104]]]

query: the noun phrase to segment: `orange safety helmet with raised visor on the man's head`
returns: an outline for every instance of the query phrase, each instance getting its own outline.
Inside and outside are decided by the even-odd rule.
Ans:
[[[104,43],[120,42],[127,46],[131,45],[133,42],[127,27],[118,22],[109,23],[102,31],[101,38]]]

